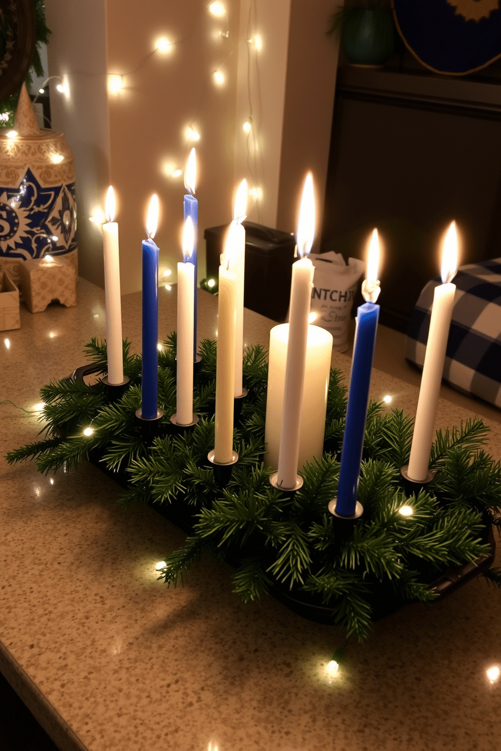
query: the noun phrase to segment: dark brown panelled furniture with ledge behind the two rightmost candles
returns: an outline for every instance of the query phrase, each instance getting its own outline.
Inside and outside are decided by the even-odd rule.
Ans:
[[[340,60],[322,251],[365,260],[378,228],[380,321],[397,330],[439,274],[452,219],[461,265],[501,255],[501,64],[480,73],[433,74],[410,53],[383,68]]]

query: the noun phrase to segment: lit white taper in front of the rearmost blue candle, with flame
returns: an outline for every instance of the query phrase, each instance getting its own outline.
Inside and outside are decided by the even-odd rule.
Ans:
[[[195,226],[191,216],[183,230],[184,263],[177,264],[177,388],[176,422],[193,420],[193,311],[195,309],[195,266],[191,258],[195,246]]]

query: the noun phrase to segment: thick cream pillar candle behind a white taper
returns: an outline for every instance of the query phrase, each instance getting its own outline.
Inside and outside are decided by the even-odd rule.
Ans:
[[[279,324],[270,331],[264,461],[272,469],[277,469],[279,465],[288,331],[288,324]],[[319,326],[308,326],[303,399],[300,404],[297,458],[300,469],[313,457],[320,459],[324,448],[332,342],[332,334],[328,331]]]

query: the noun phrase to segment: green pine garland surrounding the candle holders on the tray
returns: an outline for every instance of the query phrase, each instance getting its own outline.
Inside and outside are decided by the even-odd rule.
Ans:
[[[101,374],[106,344],[92,339],[86,356]],[[190,534],[167,556],[159,572],[168,585],[182,584],[192,564],[208,551],[235,566],[234,592],[255,601],[272,590],[324,608],[331,623],[359,639],[371,620],[406,602],[431,602],[430,582],[451,566],[487,553],[490,523],[501,526],[501,463],[485,454],[488,428],[476,418],[438,431],[431,455],[436,477],[417,496],[406,497],[400,466],[409,460],[413,421],[402,410],[385,412],[371,402],[367,413],[358,499],[361,520],[346,530],[327,511],[337,493],[346,387],[332,370],[327,396],[324,454],[303,468],[303,487],[290,496],[270,486],[262,463],[267,361],[264,348],[246,350],[240,424],[234,431],[239,461],[221,489],[207,463],[214,445],[216,342],[201,345],[194,412],[199,422],[183,435],[169,418],[176,410],[176,334],[158,353],[160,433],[146,445],[135,411],[141,403],[141,360],[123,342],[130,388],[110,403],[106,385],[62,380],[41,390],[44,438],[8,454],[8,462],[34,459],[41,472],[100,462],[126,485],[120,502],[149,502],[179,517]],[[91,436],[83,430],[92,427]],[[412,516],[400,514],[412,506]],[[501,570],[485,573],[501,587]]]

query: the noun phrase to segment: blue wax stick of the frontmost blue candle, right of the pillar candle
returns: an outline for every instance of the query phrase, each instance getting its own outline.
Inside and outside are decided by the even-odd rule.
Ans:
[[[336,513],[340,516],[352,516],[357,505],[358,478],[364,448],[370,372],[373,368],[378,318],[379,305],[376,303],[364,303],[357,310],[352,375],[341,451],[340,482],[337,489]]]

